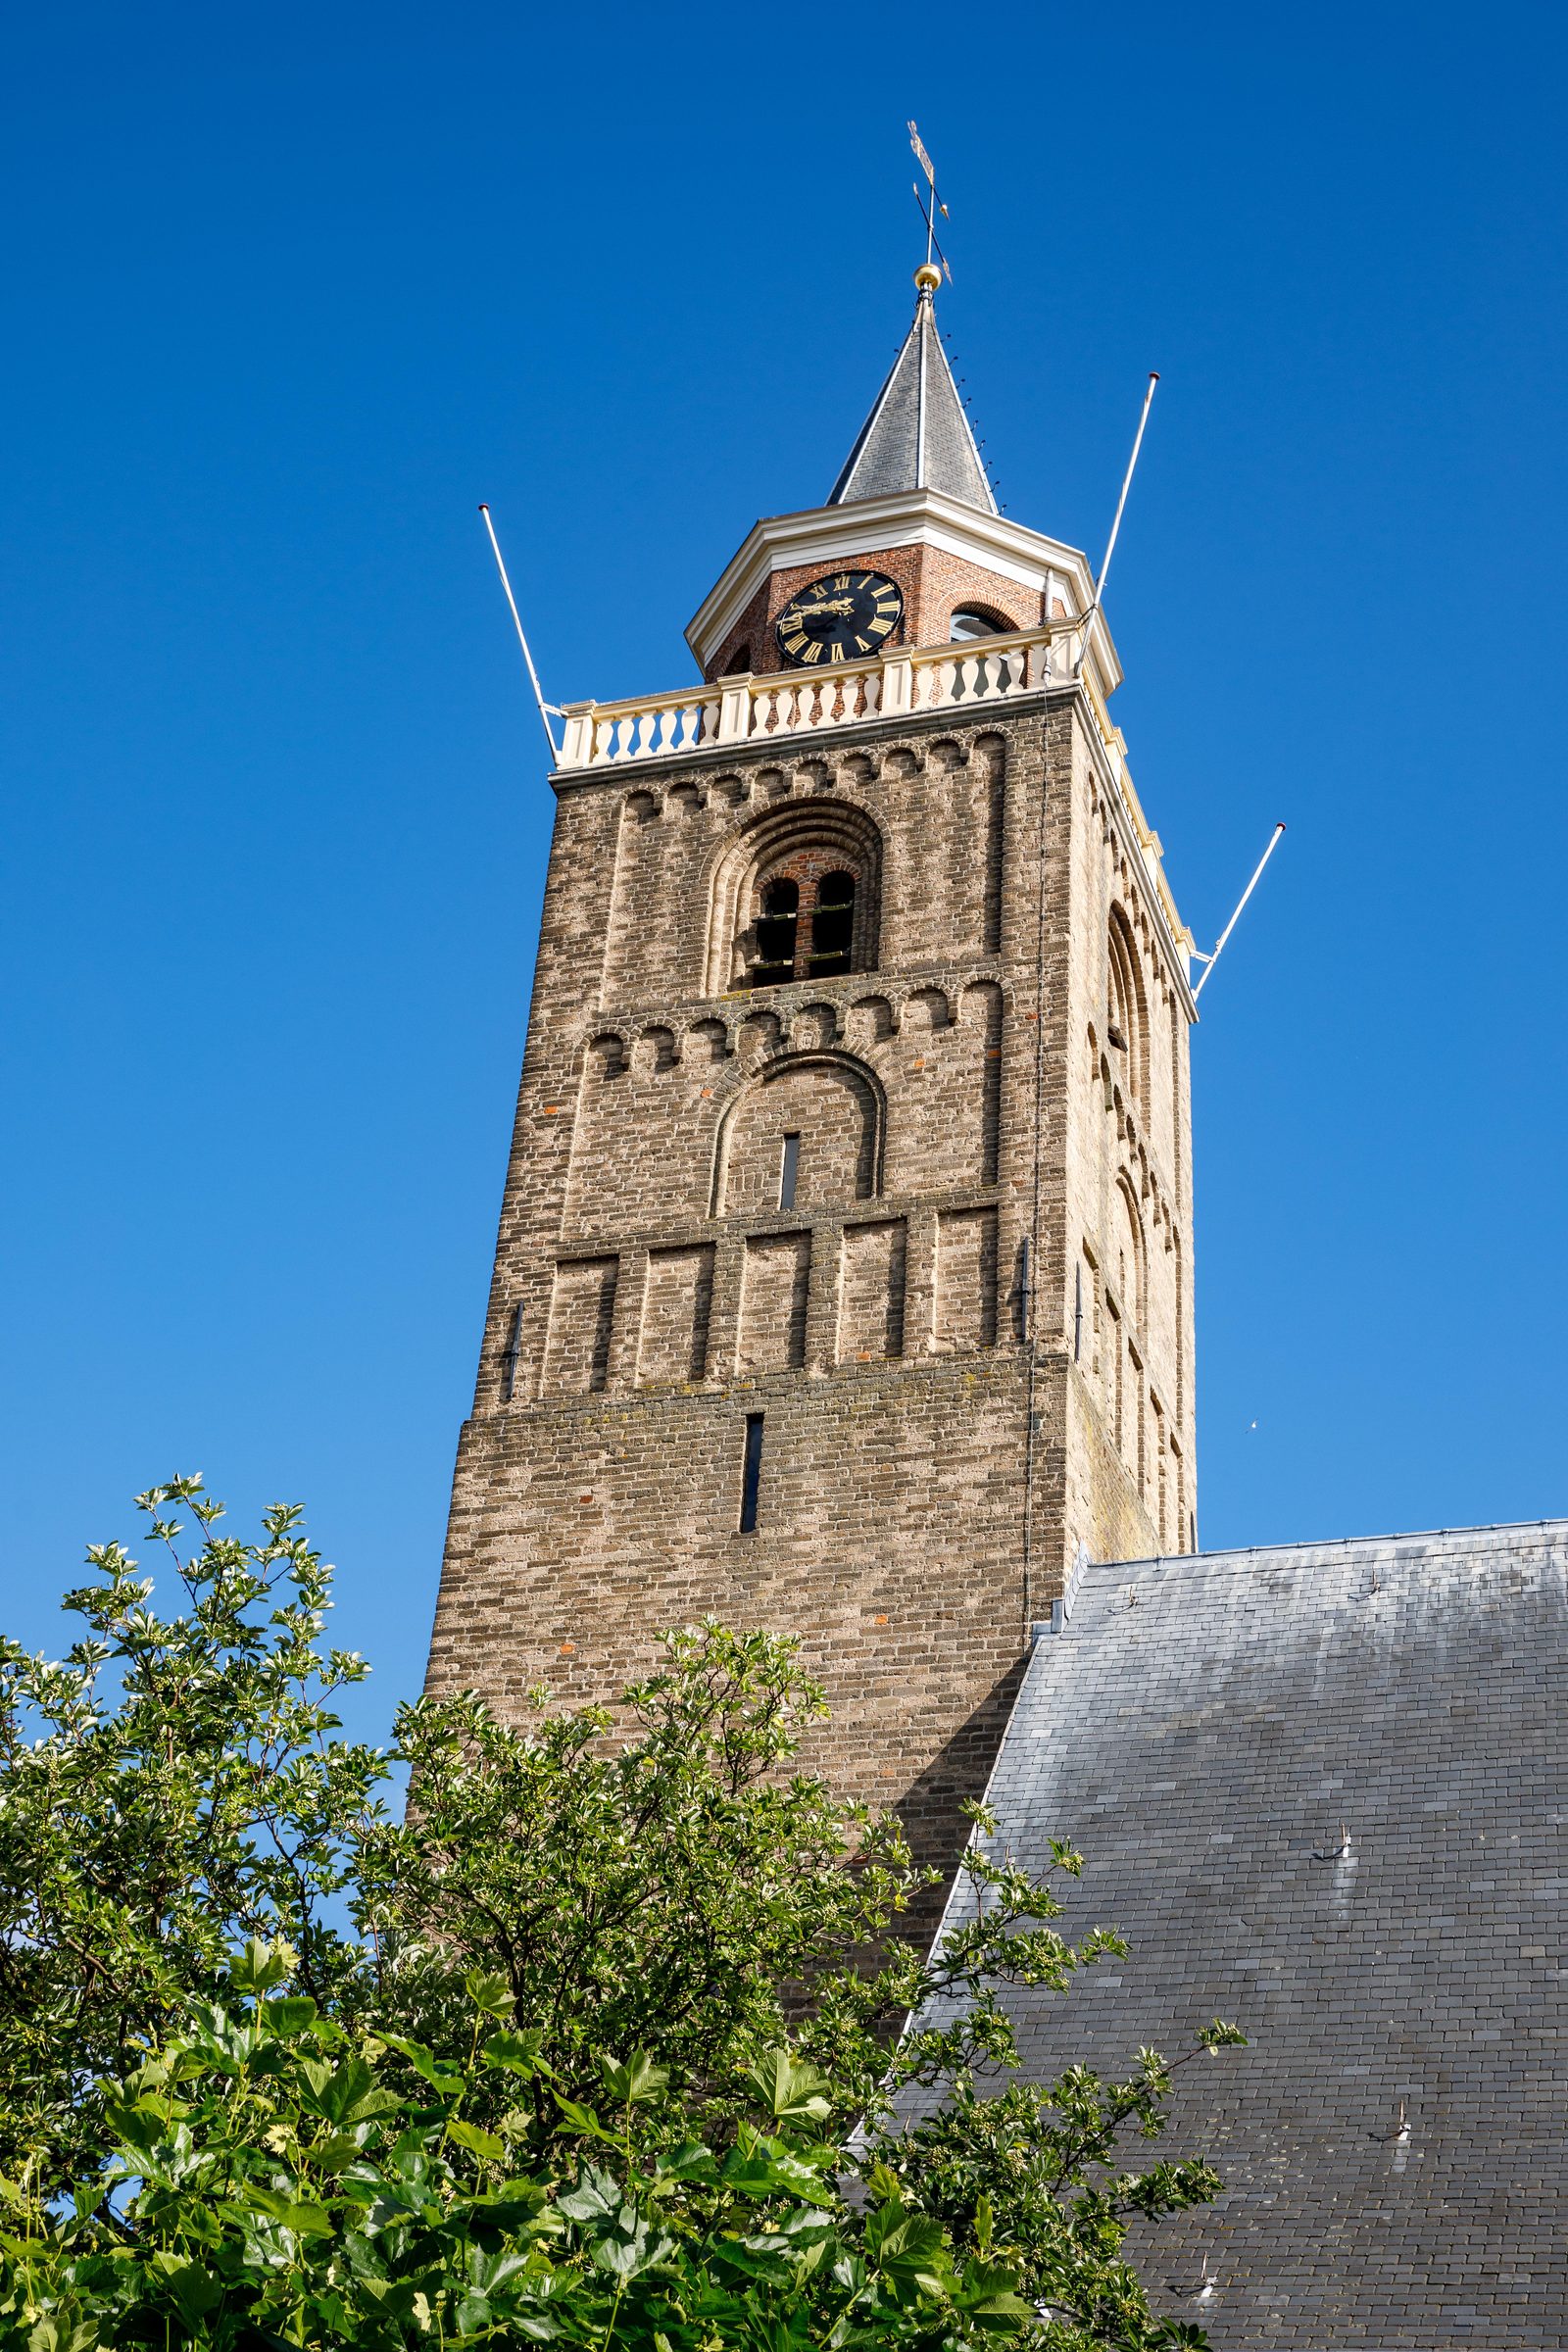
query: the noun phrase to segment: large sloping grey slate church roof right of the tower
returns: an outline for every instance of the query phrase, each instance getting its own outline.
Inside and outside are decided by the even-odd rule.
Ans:
[[[1128,2152],[1225,2176],[1128,2249],[1218,2352],[1568,2343],[1566,1588],[1563,1519],[1208,1552],[1088,1569],[1034,1646],[999,1837],[1070,1837],[1060,1924],[1131,1955],[1013,1994],[1020,2046],[1248,2034]]]

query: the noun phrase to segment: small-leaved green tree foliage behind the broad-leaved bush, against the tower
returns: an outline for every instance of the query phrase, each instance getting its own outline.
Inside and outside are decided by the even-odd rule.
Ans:
[[[108,1545],[66,1599],[89,1632],[63,1665],[0,1651],[0,2147],[33,2204],[71,2190],[80,2230],[113,2241],[106,2133],[129,2093],[94,2082],[197,2032],[193,2002],[216,2016],[226,1955],[256,1936],[292,1950],[289,1999],[315,2004],[313,2034],[348,2037],[364,2063],[374,2044],[397,2133],[437,2089],[430,2070],[454,2096],[461,2077],[456,2124],[489,2136],[508,2176],[555,2183],[555,2204],[611,2143],[639,2180],[665,2180],[686,2145],[722,2171],[757,2133],[759,2067],[780,2084],[809,2067],[811,2126],[853,2197],[929,2225],[954,2274],[1006,2267],[1060,2345],[1201,2343],[1150,2314],[1124,2263],[1135,2218],[1218,2187],[1204,2164],[1128,2161],[1164,2129],[1166,2063],[1145,2051],[1126,2082],[1020,2079],[1006,1987],[1065,1990],[1124,1952],[1107,1929],[1074,1945],[1056,1926],[1051,1879],[1077,1853],[1056,1846],[1034,1879],[990,1851],[976,1809],[973,1903],[922,1952],[900,1929],[929,1875],[896,1823],[795,1769],[823,1712],[795,1644],[719,1625],[670,1635],[661,1672],[614,1710],[552,1712],[541,1696],[503,1724],[473,1696],[421,1700],[388,1755],[357,1748],[331,1703],[364,1668],[322,1651],[329,1571],[296,1512],[247,1548],[200,1482],[141,1501],[181,1616],[160,1621]],[[169,1503],[200,1529],[188,1559]],[[414,1785],[402,1820],[397,1766]],[[505,2065],[470,2065],[475,1983],[527,2034],[548,2096],[517,2100]],[[1180,2063],[1234,2039],[1215,2023]],[[621,2100],[611,2126],[616,2051],[642,2053],[658,2096]],[[233,2129],[230,2157],[254,2152],[254,2124]],[[139,2246],[150,2216],[139,2201]]]

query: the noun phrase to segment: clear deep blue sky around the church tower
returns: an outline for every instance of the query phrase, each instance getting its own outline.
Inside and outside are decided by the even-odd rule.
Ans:
[[[689,675],[903,334],[1098,550],[1199,941],[1206,1545],[1568,1510],[1561,12],[80,7],[7,28],[5,1621],[303,1498],[418,1682],[555,699]]]

